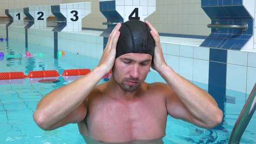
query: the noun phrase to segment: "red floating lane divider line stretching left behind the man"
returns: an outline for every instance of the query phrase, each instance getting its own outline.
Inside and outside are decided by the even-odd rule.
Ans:
[[[75,76],[75,75],[87,75],[91,72],[90,69],[66,69],[62,73],[63,76]],[[106,76],[112,74],[112,70],[108,72]],[[42,71],[30,71],[28,75],[24,75],[23,72],[0,72],[0,80],[6,79],[24,79],[24,78],[46,78],[57,77],[60,74],[56,70],[42,70]]]

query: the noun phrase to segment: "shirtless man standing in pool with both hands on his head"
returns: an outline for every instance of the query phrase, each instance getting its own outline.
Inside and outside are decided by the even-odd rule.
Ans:
[[[223,113],[216,101],[166,64],[157,30],[145,23],[154,39],[153,57],[144,51],[117,56],[118,23],[92,72],[39,101],[33,114],[36,124],[50,131],[77,123],[85,140],[103,142],[158,141],[165,135],[167,115],[202,128],[220,124]],[[167,84],[144,82],[151,65]],[[111,79],[97,85],[112,68]]]

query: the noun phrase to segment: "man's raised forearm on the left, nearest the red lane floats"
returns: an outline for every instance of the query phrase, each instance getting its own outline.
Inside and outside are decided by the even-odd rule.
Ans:
[[[102,77],[100,69],[95,68],[89,74],[45,95],[37,105],[34,118],[43,119],[49,126],[58,123],[82,104]]]

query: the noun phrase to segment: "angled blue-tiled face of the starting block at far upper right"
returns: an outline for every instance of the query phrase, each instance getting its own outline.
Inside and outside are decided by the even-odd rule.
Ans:
[[[218,49],[240,50],[253,36],[253,18],[249,15],[245,7],[240,5],[242,4],[242,0],[219,1],[222,2],[223,5],[212,6],[216,5],[217,1],[201,0],[203,10],[212,20],[211,24],[219,23],[223,25],[243,25],[246,23],[248,25],[248,29],[243,31],[243,29],[211,28],[210,36],[208,36],[200,46]]]

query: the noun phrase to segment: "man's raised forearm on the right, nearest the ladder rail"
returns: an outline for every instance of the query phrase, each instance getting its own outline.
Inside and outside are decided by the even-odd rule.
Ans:
[[[212,123],[213,116],[222,113],[211,95],[178,75],[171,67],[165,66],[159,73],[197,120],[208,125]]]

